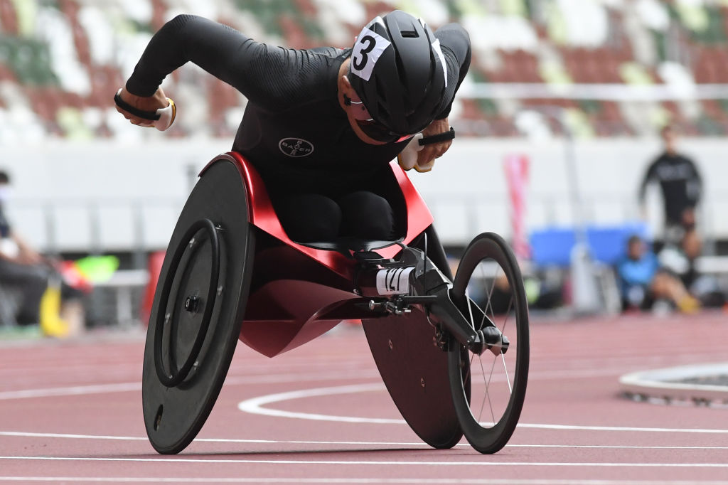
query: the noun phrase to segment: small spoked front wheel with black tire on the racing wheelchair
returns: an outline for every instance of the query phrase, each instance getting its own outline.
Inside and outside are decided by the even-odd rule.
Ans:
[[[452,337],[448,342],[451,394],[465,438],[478,452],[495,453],[518,424],[529,375],[526,292],[521,269],[502,237],[486,232],[470,242],[452,297],[475,328],[481,328],[485,315],[510,342],[498,355],[490,350],[477,355]]]

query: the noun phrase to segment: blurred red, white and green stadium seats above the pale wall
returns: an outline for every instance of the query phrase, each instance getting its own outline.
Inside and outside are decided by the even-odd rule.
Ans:
[[[462,23],[473,62],[468,83],[669,87],[728,83],[728,2],[721,0],[0,0],[0,141],[138,138],[111,95],[152,33],[189,12],[289,47],[347,47],[361,25],[402,8],[437,27]],[[194,67],[170,76],[180,117],[170,135],[234,135],[245,99]],[[460,133],[558,133],[523,111],[560,106],[577,136],[654,133],[671,120],[689,135],[728,133],[728,99],[469,98],[451,117]]]

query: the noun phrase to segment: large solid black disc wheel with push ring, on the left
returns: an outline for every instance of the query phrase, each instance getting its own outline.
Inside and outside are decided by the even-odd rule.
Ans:
[[[240,336],[254,251],[245,183],[218,160],[182,210],[154,295],[142,404],[159,453],[185,449],[213,409]]]

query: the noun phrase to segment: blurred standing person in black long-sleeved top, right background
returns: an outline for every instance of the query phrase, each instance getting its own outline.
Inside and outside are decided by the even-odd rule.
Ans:
[[[664,242],[677,245],[685,232],[695,228],[695,208],[703,192],[703,179],[695,162],[678,153],[674,127],[663,127],[660,135],[665,151],[647,168],[638,200],[645,213],[646,187],[652,182],[660,184],[665,211]]]

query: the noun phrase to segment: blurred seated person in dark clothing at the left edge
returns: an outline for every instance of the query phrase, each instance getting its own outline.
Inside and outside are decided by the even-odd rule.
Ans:
[[[11,194],[10,177],[0,170],[0,285],[20,294],[15,320],[40,324],[47,336],[78,334],[84,325],[80,293],[65,285],[55,264],[12,229],[6,216]]]

